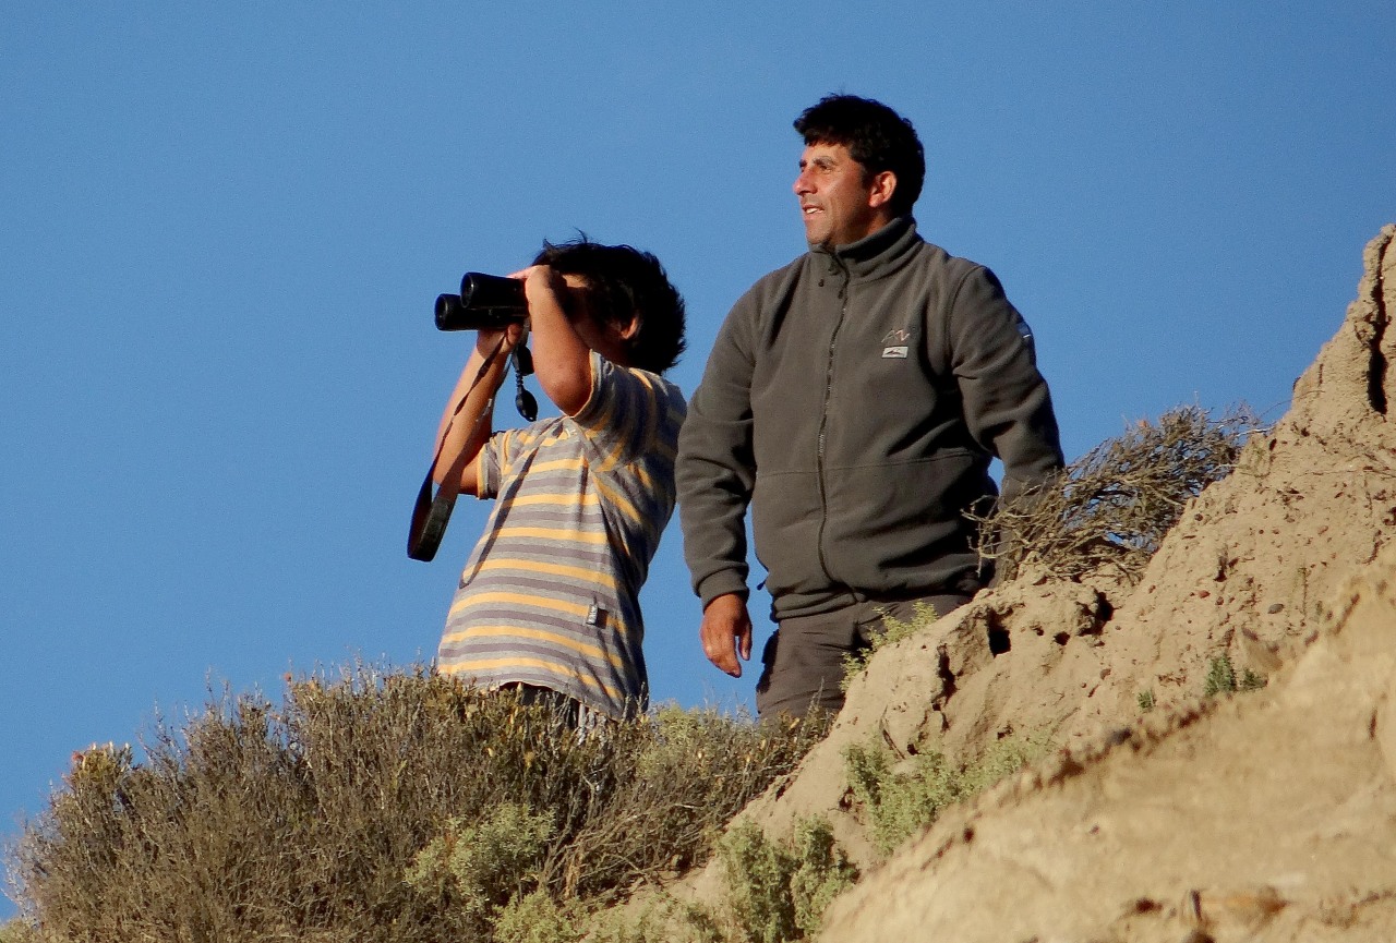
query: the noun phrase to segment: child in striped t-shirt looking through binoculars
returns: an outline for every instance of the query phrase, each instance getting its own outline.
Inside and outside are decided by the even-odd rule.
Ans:
[[[544,246],[524,280],[532,363],[561,410],[493,432],[522,326],[482,329],[437,432],[436,481],[494,498],[437,667],[561,707],[586,728],[644,710],[639,589],[674,506],[684,399],[660,377],[684,303],[659,261],[585,239]],[[483,368],[483,372],[482,372]]]

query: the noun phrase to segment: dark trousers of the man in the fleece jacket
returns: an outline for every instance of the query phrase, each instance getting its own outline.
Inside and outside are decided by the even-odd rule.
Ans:
[[[958,593],[895,603],[868,600],[832,612],[780,619],[761,653],[765,667],[757,682],[757,713],[803,717],[811,704],[838,711],[843,707],[845,658],[871,647],[874,636],[884,631],[884,617],[910,622],[917,601],[945,615],[969,600]]]

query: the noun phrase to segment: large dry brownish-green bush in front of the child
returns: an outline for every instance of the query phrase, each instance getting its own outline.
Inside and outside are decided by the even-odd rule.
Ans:
[[[281,706],[211,697],[141,763],[84,752],[8,865],[43,943],[489,940],[536,891],[571,919],[699,863],[822,732],[660,710],[578,739],[511,695],[355,665]]]

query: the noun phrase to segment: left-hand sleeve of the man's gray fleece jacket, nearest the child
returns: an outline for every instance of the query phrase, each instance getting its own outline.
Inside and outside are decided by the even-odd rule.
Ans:
[[[678,520],[692,587],[706,607],[718,596],[748,596],[747,506],[755,481],[751,432],[757,304],[733,307],[688,400],[678,432]]]

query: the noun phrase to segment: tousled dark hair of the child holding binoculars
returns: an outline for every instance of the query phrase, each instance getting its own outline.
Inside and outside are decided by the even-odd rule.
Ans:
[[[684,299],[658,258],[632,246],[602,246],[582,234],[558,246],[544,241],[533,264],[584,278],[592,317],[618,325],[638,318],[639,329],[625,342],[628,365],[662,374],[678,361]]]

